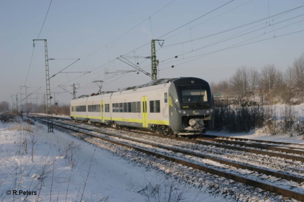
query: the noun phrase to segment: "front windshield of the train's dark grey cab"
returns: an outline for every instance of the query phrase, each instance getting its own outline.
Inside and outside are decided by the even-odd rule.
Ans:
[[[181,102],[182,103],[202,103],[207,102],[207,90],[205,86],[191,85],[181,86]]]

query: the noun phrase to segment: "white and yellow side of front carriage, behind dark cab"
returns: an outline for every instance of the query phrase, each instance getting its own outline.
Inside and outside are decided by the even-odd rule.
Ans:
[[[162,85],[113,93],[112,121],[118,125],[133,127],[169,125],[168,104],[164,103],[164,92],[168,92],[168,87]]]

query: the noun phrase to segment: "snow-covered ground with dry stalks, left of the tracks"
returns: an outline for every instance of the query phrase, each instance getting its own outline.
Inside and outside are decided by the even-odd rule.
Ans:
[[[0,125],[0,201],[148,201],[152,187],[164,201],[170,184],[181,201],[233,201],[37,122]]]

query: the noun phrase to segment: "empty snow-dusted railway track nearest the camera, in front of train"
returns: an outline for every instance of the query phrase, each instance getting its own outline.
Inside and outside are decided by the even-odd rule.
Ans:
[[[63,126],[63,124],[66,124],[66,123],[56,123],[54,125],[63,127],[67,130],[72,130],[74,132],[82,133],[82,134],[90,136],[92,138],[98,138],[100,140],[108,141],[108,142],[111,142],[111,143],[114,143],[114,144],[117,144],[120,146],[124,146],[126,148],[140,151],[140,152],[143,152],[143,153],[146,153],[146,154],[158,157],[158,158],[162,158],[162,159],[165,159],[165,160],[168,160],[171,162],[180,163],[187,167],[192,167],[192,168],[202,170],[202,171],[205,171],[208,173],[216,174],[218,176],[225,177],[225,178],[237,181],[237,182],[245,183],[245,184],[248,184],[248,185],[251,185],[254,187],[259,187],[261,189],[268,190],[268,191],[271,191],[271,192],[274,192],[277,194],[282,194],[285,197],[292,197],[296,200],[304,201],[303,189],[301,189],[300,186],[299,186],[300,187],[299,192],[295,192],[290,189],[271,185],[273,183],[273,181],[280,180],[280,179],[284,179],[286,181],[292,180],[296,183],[303,183],[304,178],[302,178],[302,177],[291,176],[291,175],[287,175],[284,173],[278,173],[278,172],[265,170],[265,169],[261,169],[261,168],[257,168],[257,167],[252,167],[252,166],[248,166],[248,165],[244,165],[244,164],[240,164],[240,163],[225,161],[225,160],[209,157],[206,155],[201,155],[198,153],[188,152],[188,151],[181,150],[181,149],[175,149],[175,148],[168,147],[168,146],[149,143],[147,141],[135,140],[135,139],[128,138],[128,137],[118,136],[113,133],[100,132],[100,131],[83,128],[83,127],[75,126],[75,125],[71,125],[71,124],[66,124],[66,125],[68,125],[68,127],[67,127],[67,126]],[[71,127],[74,127],[74,129],[72,129]],[[94,135],[94,134],[84,132],[84,131],[99,133],[99,134],[106,135],[108,137],[101,137],[99,135]],[[111,137],[111,138],[109,138],[109,137]],[[165,138],[172,138],[174,140],[177,140],[174,137],[165,137]],[[202,143],[201,140],[191,140],[191,139],[190,140],[183,139],[181,141],[192,142],[195,144]],[[199,142],[201,142],[201,143],[199,143]],[[205,144],[205,143],[203,143],[203,144]],[[215,144],[215,143],[207,143],[207,145],[212,145],[212,144]],[[218,144],[212,145],[212,146],[218,146]],[[225,146],[225,145],[221,145],[221,147],[222,146]],[[151,148],[149,148],[149,147],[151,147]],[[166,151],[164,152],[164,150],[166,150]],[[246,151],[248,151],[248,150],[246,150]],[[189,157],[186,158],[185,156],[189,156]],[[286,157],[286,155],[283,158],[285,158],[285,157]],[[206,163],[206,160],[207,160],[207,163]],[[295,160],[295,159],[293,159],[293,160]],[[214,165],[210,164],[209,161],[220,163],[224,166],[214,166]],[[244,172],[242,174],[242,171],[240,171],[240,172],[236,172],[236,170],[233,170],[231,172],[227,171],[227,168],[229,168],[231,166],[234,168],[237,168],[237,169],[239,168],[239,169],[250,170],[250,171],[253,171],[253,173],[251,173],[251,176],[249,176],[249,174],[246,173],[246,171],[245,171],[245,174],[244,174]],[[264,174],[267,176],[273,176],[276,179],[273,179],[272,182],[269,181],[269,183],[264,183],[264,182],[261,182],[261,181],[263,181],[263,178],[257,180],[257,175],[259,175],[257,173],[261,173],[261,174]],[[246,177],[242,177],[244,175],[246,175]]]

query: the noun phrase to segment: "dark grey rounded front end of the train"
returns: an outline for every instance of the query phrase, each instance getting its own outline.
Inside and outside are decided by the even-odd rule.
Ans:
[[[196,135],[213,128],[214,99],[208,82],[179,78],[169,87],[170,127],[177,135]]]

